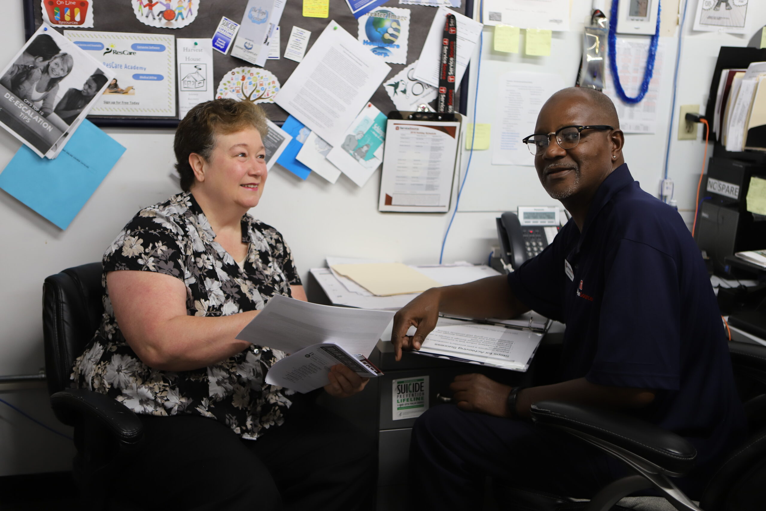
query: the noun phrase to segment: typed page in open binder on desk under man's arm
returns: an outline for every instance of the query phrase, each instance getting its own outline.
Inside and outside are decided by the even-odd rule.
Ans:
[[[437,326],[426,337],[421,352],[526,371],[542,335],[497,325]]]

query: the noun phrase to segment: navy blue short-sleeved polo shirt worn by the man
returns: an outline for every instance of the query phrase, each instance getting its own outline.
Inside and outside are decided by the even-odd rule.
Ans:
[[[700,480],[742,440],[745,415],[699,248],[627,165],[601,183],[582,233],[569,221],[508,283],[526,306],[565,323],[562,381],[656,392],[631,413],[694,444]]]

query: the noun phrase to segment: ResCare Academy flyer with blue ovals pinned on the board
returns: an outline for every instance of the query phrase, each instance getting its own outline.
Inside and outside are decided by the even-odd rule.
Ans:
[[[116,75],[91,115],[175,117],[175,38],[172,35],[64,31]]]

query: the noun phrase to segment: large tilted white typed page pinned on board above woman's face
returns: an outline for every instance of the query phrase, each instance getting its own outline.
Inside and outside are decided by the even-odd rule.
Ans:
[[[340,146],[345,129],[390,70],[331,21],[274,101],[330,146]]]

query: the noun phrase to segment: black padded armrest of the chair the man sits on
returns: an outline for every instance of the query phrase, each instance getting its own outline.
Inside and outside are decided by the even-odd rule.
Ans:
[[[694,467],[697,456],[694,446],[679,435],[614,411],[561,401],[540,401],[532,405],[532,420],[536,424],[565,429],[607,451],[611,447],[627,451],[669,475],[687,473]]]

